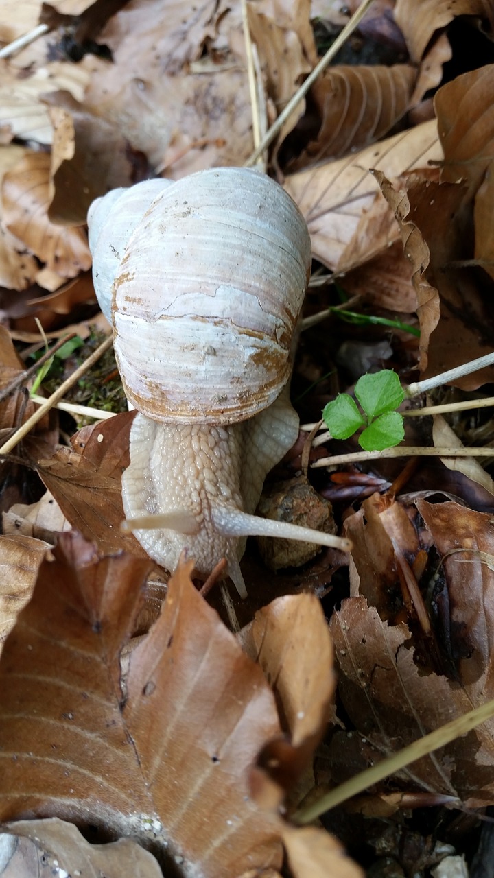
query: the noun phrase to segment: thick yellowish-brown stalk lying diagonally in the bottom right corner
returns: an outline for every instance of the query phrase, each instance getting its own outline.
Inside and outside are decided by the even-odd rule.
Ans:
[[[438,750],[439,747],[450,744],[456,738],[461,738],[461,735],[466,735],[467,732],[476,729],[491,716],[494,716],[494,699],[485,702],[480,708],[469,710],[469,713],[463,714],[458,719],[452,720],[451,723],[430,732],[424,738],[419,738],[408,747],[403,747],[403,750],[389,756],[388,759],[382,759],[377,765],[367,768],[367,771],[356,774],[350,781],[345,781],[339,787],[331,789],[330,793],[323,795],[317,802],[296,811],[292,815],[292,819],[299,824],[311,823],[325,811],[335,808],[341,802],[346,802],[353,795],[362,793],[365,789],[374,786],[375,783],[389,777],[390,774],[401,771],[402,768],[410,765],[410,762],[415,762],[416,759],[427,756],[428,753]]]

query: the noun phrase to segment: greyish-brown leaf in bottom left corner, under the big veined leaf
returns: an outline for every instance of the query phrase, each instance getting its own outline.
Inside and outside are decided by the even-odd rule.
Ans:
[[[57,817],[19,820],[0,834],[2,878],[105,875],[105,878],[163,878],[152,854],[130,838],[90,845],[73,824]]]

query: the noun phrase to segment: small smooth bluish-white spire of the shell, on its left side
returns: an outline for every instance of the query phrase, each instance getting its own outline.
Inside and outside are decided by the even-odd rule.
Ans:
[[[112,291],[127,241],[154,198],[172,184],[160,177],[120,187],[96,198],[88,211],[88,238],[92,280],[99,307],[112,322]]]

